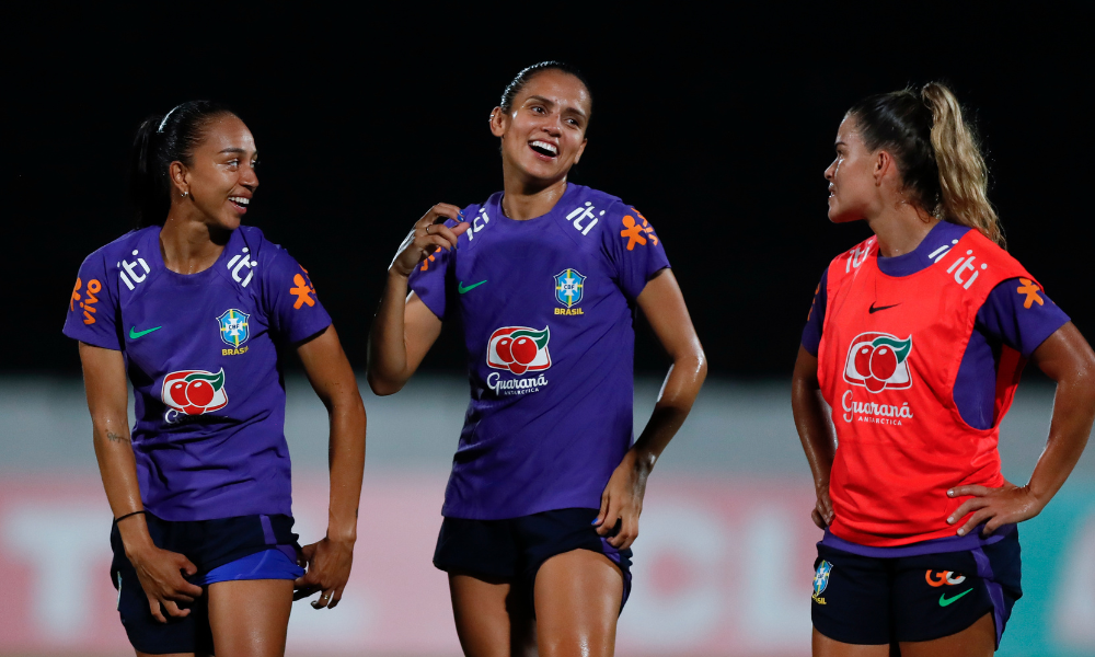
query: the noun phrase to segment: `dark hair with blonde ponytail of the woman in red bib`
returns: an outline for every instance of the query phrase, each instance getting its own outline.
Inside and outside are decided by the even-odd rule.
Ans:
[[[972,126],[949,89],[929,82],[863,99],[848,111],[871,150],[894,155],[906,188],[940,219],[976,228],[1005,245],[988,197],[989,173]]]

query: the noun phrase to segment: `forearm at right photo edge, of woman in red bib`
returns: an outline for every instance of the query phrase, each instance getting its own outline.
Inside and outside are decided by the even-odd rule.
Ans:
[[[1060,381],[1046,450],[1027,487],[1045,507],[1061,489],[1087,445],[1095,420],[1095,387],[1086,378]]]

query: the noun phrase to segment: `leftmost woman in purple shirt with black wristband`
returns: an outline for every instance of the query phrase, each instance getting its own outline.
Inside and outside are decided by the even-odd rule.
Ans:
[[[240,226],[256,162],[251,131],[216,104],[147,119],[132,180],[143,228],[88,256],[69,300],[137,655],[281,655],[293,589],[334,607],[349,577],[365,407],[308,273]],[[327,534],[303,549],[278,343],[331,414]]]

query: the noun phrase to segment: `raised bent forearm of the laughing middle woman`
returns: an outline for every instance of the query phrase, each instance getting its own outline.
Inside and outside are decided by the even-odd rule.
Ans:
[[[377,394],[399,391],[410,379],[404,311],[407,277],[388,272],[384,296],[369,332],[369,385]]]

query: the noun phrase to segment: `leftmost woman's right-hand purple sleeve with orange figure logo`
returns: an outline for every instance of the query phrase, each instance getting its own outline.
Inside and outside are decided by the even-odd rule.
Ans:
[[[308,269],[284,249],[273,249],[263,277],[270,327],[283,339],[297,343],[330,326],[331,315],[320,303]]]

